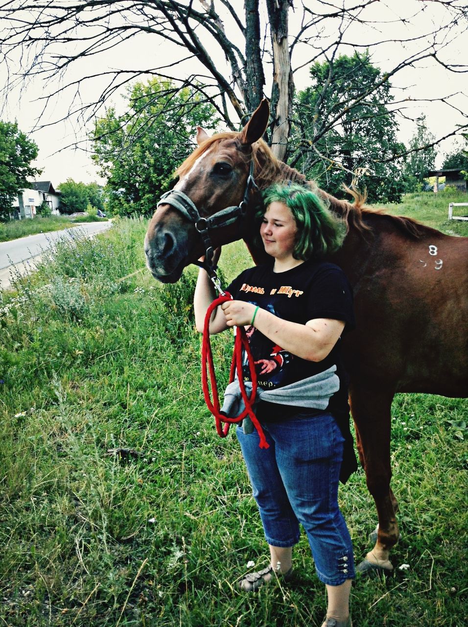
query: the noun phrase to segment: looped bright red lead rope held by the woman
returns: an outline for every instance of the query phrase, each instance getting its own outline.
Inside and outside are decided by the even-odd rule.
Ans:
[[[232,300],[231,294],[225,293],[224,295],[216,298],[211,305],[209,306],[206,315],[205,315],[205,324],[203,329],[203,340],[202,340],[202,387],[203,387],[203,396],[205,397],[205,402],[207,404],[208,409],[213,414],[216,421],[216,431],[220,438],[226,438],[227,433],[229,431],[229,426],[231,423],[239,423],[241,420],[249,416],[251,418],[254,427],[257,429],[257,433],[260,438],[260,448],[269,448],[269,444],[266,441],[265,435],[263,433],[263,429],[261,428],[261,424],[257,420],[256,415],[252,409],[252,405],[254,404],[255,397],[257,394],[257,374],[255,372],[255,364],[254,359],[252,357],[252,352],[249,346],[249,340],[247,339],[247,334],[244,327],[236,327],[236,337],[234,339],[234,352],[232,353],[232,362],[231,362],[231,373],[229,376],[229,382],[234,381],[234,377],[237,373],[237,379],[239,380],[239,387],[241,388],[242,400],[245,404],[245,409],[242,411],[239,416],[231,417],[226,416],[220,411],[220,404],[218,398],[218,388],[216,382],[216,372],[214,371],[214,362],[213,355],[211,351],[211,342],[210,342],[210,318],[211,314],[216,307],[222,305],[222,303],[227,300]],[[242,348],[246,351],[247,360],[249,362],[249,370],[250,377],[252,381],[252,391],[250,396],[247,396],[246,386],[244,384],[244,376],[242,374]],[[210,384],[208,383],[208,373],[210,376]],[[210,396],[209,387],[211,386],[211,393],[213,399]],[[221,423],[225,423],[224,427]]]

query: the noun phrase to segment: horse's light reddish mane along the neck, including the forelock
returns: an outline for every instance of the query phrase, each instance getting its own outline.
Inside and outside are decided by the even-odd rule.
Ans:
[[[192,154],[185,159],[175,171],[175,176],[185,176],[192,169],[195,161],[204,155],[215,144],[219,144],[222,140],[237,140],[239,133],[227,131],[217,133],[206,139],[200,144]],[[239,147],[241,144],[239,143]],[[246,159],[248,159],[246,155]],[[372,227],[368,224],[368,218],[371,216],[382,216],[390,220],[400,231],[408,234],[410,237],[419,239],[427,233],[429,227],[414,220],[405,218],[404,216],[392,216],[382,209],[373,209],[366,206],[366,195],[361,194],[355,187],[344,187],[345,191],[353,197],[353,202],[340,200],[331,196],[328,192],[320,189],[315,181],[308,181],[306,177],[292,167],[286,165],[283,161],[279,161],[263,139],[259,139],[252,144],[252,160],[254,161],[254,178],[259,189],[263,190],[274,182],[297,182],[299,185],[309,187],[315,192],[333,213],[337,214],[346,223],[346,229],[355,229],[362,236],[372,233]]]

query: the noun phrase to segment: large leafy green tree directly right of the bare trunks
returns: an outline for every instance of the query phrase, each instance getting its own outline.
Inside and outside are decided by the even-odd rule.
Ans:
[[[344,197],[343,184],[354,182],[367,189],[370,202],[397,202],[404,189],[397,155],[405,147],[397,142],[395,113],[385,104],[392,101],[390,82],[380,85],[382,72],[368,51],[341,55],[332,65],[317,61],[310,76],[311,87],[294,103],[295,167],[338,198]],[[323,120],[335,119],[320,130]]]

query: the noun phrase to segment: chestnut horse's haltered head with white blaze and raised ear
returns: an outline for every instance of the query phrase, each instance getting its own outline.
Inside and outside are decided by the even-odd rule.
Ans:
[[[179,280],[185,266],[205,254],[207,236],[214,247],[239,238],[236,222],[242,212],[234,210],[247,204],[252,144],[264,134],[268,115],[263,100],[239,133],[209,137],[198,129],[198,148],[177,170],[179,181],[159,201],[148,226],[145,253],[155,278]],[[219,214],[226,208],[233,209],[232,216]]]

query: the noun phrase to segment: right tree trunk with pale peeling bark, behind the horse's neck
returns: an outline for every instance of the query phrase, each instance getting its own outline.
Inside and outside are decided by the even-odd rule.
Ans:
[[[284,161],[291,130],[294,81],[288,43],[288,10],[290,0],[267,0],[273,46],[273,87],[271,90],[271,149]]]

